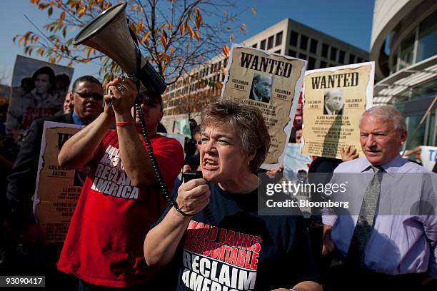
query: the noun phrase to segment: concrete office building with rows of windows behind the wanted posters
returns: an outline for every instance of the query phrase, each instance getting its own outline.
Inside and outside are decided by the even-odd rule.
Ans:
[[[305,59],[308,61],[307,70],[369,59],[367,51],[291,19],[273,24],[241,44]],[[228,58],[221,53],[169,86],[164,96],[163,119],[168,131],[173,132],[174,123],[179,118],[189,115],[197,119],[203,104],[220,95],[221,86],[209,86],[208,83],[216,85],[223,81],[227,61]]]

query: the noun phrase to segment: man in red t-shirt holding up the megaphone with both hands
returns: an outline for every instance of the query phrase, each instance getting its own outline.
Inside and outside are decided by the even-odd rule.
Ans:
[[[120,90],[118,88],[120,88]],[[127,78],[109,83],[104,113],[67,141],[59,164],[91,165],[58,262],[59,270],[79,277],[79,290],[101,286],[153,288],[152,270],[144,260],[149,227],[166,208],[131,105],[136,86]],[[151,145],[169,190],[184,162],[174,138],[156,133],[163,116],[161,97],[141,108]],[[107,104],[112,102],[112,106]],[[116,130],[109,127],[116,121]],[[96,286],[99,285],[99,286]]]

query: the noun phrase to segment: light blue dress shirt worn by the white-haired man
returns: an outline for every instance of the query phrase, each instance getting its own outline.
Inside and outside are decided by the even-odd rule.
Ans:
[[[361,185],[356,187],[349,185],[348,187],[348,191],[353,192],[348,193],[348,195],[355,195],[358,201],[362,201],[366,185],[373,175],[370,165],[371,163],[366,158],[358,158],[341,163],[334,171],[334,173],[371,173],[370,175],[363,174]],[[431,173],[421,165],[403,160],[400,155],[382,167],[386,172],[385,175],[388,176],[383,177],[381,182],[381,197],[383,197],[384,192],[392,192],[392,199],[393,196],[396,197],[392,203],[402,205],[408,203],[411,189],[413,189],[415,193],[435,202],[437,194],[436,174]],[[428,182],[425,183],[423,182],[425,180],[413,178],[416,185],[411,185],[408,182],[407,187],[402,188],[401,185],[398,189],[393,190],[393,185],[389,184],[389,180],[396,175],[401,175],[401,173],[416,173],[414,174],[416,177],[420,176],[419,173],[426,173],[424,176],[428,177]],[[404,176],[405,178],[411,177],[411,175]],[[333,179],[335,177],[336,175],[333,176]],[[338,183],[338,181],[334,182]],[[333,183],[332,180],[331,183]],[[410,190],[408,190],[408,185]],[[396,188],[396,185],[394,187]],[[337,250],[345,257],[355,230],[360,205],[358,205],[358,211],[350,212],[355,215],[347,215],[347,213],[323,215],[323,223],[333,226],[331,240],[333,240]],[[435,210],[435,205],[433,205],[433,209]],[[428,275],[437,278],[436,215],[386,215],[388,213],[381,215],[381,208],[378,208],[378,211],[379,214],[376,215],[371,238],[366,245],[364,265],[370,270],[388,275],[428,272]]]

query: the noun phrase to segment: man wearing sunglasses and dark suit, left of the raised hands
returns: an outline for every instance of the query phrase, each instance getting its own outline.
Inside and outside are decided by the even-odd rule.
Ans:
[[[35,120],[31,123],[26,138],[21,143],[19,154],[8,177],[9,185],[6,191],[11,210],[11,231],[14,232],[11,233],[12,240],[14,238],[17,240],[20,233],[23,240],[27,240],[33,245],[37,245],[42,239],[41,230],[36,225],[33,215],[31,198],[35,191],[44,121],[86,126],[94,121],[102,111],[104,96],[99,80],[92,76],[81,76],[74,81],[72,89],[71,97],[74,110],[61,116]],[[11,243],[14,245],[16,242]],[[26,241],[24,241],[25,243]],[[39,259],[44,260],[45,258]],[[29,267],[29,272],[32,272],[34,268],[35,266]]]

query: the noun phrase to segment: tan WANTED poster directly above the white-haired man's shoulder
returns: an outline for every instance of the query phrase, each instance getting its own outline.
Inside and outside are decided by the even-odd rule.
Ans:
[[[363,156],[358,122],[372,106],[373,76],[373,62],[306,72],[303,154],[341,159],[341,148],[352,146]]]

